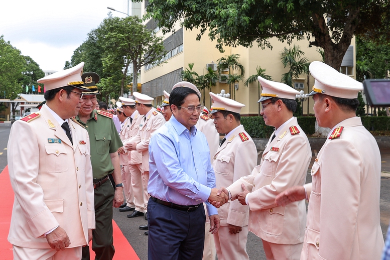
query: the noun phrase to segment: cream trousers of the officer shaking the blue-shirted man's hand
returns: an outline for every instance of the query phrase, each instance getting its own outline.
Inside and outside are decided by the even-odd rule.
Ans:
[[[262,239],[264,252],[267,260],[299,260],[303,243],[299,244],[276,244]]]

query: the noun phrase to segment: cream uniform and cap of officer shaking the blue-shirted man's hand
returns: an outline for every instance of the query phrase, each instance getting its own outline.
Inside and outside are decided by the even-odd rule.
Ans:
[[[279,82],[261,77],[263,100],[272,97],[294,99],[299,93]],[[299,259],[305,233],[306,205],[304,201],[276,206],[275,197],[287,188],[304,185],[311,160],[309,141],[292,117],[272,134],[260,165],[250,175],[241,177],[227,189],[232,200],[242,191],[243,183],[249,194],[249,231],[262,238],[267,259]]]

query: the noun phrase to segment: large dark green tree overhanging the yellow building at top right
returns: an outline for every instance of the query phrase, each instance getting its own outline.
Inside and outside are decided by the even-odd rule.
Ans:
[[[147,12],[164,33],[174,31],[177,22],[200,29],[197,40],[207,31],[220,51],[223,45],[253,43],[272,48],[273,37],[288,44],[307,39],[311,46],[324,49],[325,63],[335,69],[353,35],[390,39],[390,4],[384,0],[150,0]]]

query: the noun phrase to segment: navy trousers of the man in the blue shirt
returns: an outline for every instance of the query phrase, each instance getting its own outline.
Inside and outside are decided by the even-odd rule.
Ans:
[[[187,212],[148,202],[148,259],[202,259],[204,207]]]

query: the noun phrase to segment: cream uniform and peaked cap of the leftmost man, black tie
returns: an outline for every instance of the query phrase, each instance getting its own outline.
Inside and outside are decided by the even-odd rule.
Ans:
[[[45,83],[47,90],[67,85],[83,89],[79,87],[83,65],[38,82]],[[72,143],[61,120],[45,104],[40,112],[16,121],[11,128],[8,166],[15,201],[8,240],[14,245],[15,259],[81,258],[88,229],[95,228],[88,133],[77,122],[66,119]],[[45,234],[58,226],[65,230],[71,244],[57,252]]]

